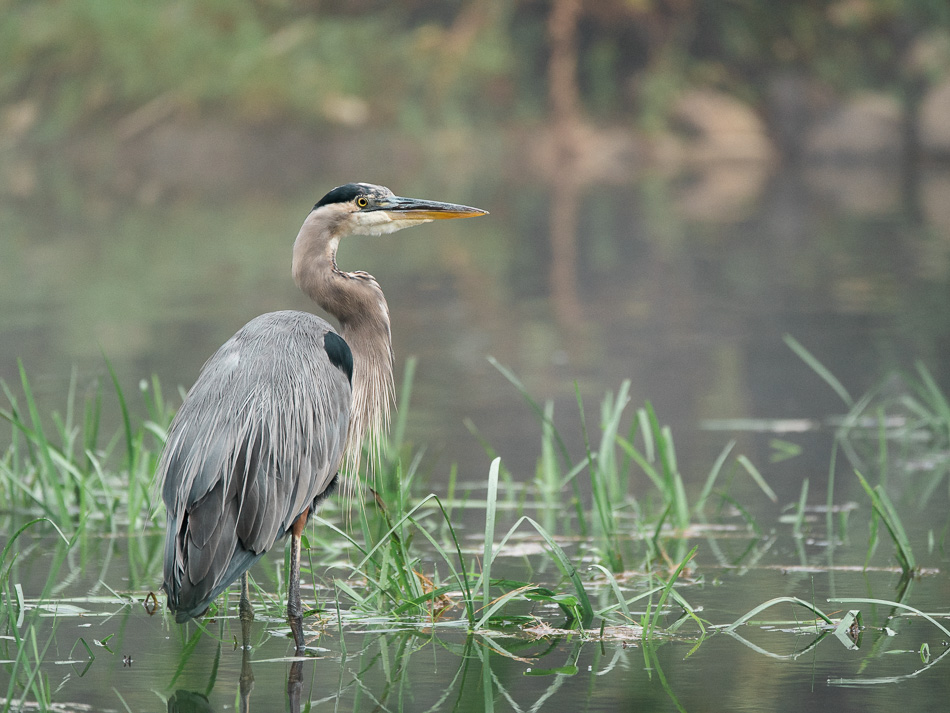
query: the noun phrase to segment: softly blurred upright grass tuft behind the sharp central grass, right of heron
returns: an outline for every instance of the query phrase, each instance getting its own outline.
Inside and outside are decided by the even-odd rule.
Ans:
[[[730,496],[728,484],[721,483],[724,472],[739,470],[748,474],[767,497],[776,500],[774,491],[751,460],[742,454],[733,455],[732,441],[713,463],[691,504],[679,470],[672,429],[660,422],[649,402],[633,414],[628,413],[629,381],[622,382],[616,393],[605,394],[601,401],[600,434],[596,441],[575,386],[585,457],[574,461],[555,424],[553,404],[540,405],[510,369],[495,359],[489,361],[517,389],[541,426],[541,455],[534,485],[540,495],[545,524],[555,534],[571,534],[570,518],[564,517],[564,503],[572,503],[578,534],[593,538],[599,563],[614,573],[627,569],[629,561],[637,561],[638,544],[643,541],[648,547],[639,553],[641,565],[650,569],[652,563],[662,562],[675,569],[687,556],[688,548],[683,546],[680,535],[694,523],[717,517],[718,512],[707,512],[716,499],[720,508],[723,503],[736,506],[749,527],[757,529],[748,511]],[[486,452],[492,457],[496,455],[490,447],[486,447]],[[652,489],[643,487],[638,473],[647,477]],[[722,487],[717,490],[720,484]],[[590,507],[584,503],[590,503]],[[670,535],[679,543],[672,556],[664,546],[664,539]]]

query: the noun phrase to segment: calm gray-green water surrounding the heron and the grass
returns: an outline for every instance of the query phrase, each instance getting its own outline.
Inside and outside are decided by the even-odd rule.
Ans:
[[[860,508],[836,533],[837,546],[827,546],[823,515],[804,539],[780,519],[804,478],[809,503],[825,502],[827,429],[783,434],[802,453],[772,463],[768,436],[702,426],[736,418],[823,420],[845,410],[784,334],[855,397],[894,369],[912,370],[918,359],[950,385],[950,173],[921,172],[907,182],[875,166],[677,178],[640,172],[621,182],[564,186],[496,161],[486,158],[461,178],[423,162],[403,176],[367,167],[314,172],[309,185],[296,188],[250,180],[224,195],[173,185],[157,202],[148,186],[112,192],[67,162],[39,161],[36,195],[0,199],[0,377],[17,384],[22,359],[48,413],[64,408],[73,369],[81,389],[106,378],[105,354],[133,397],[152,374],[173,393],[251,317],[310,309],[289,275],[290,248],[309,207],[329,188],[367,180],[483,207],[487,218],[351,238],[339,256],[343,269],[371,272],[386,292],[397,373],[408,357],[418,359],[408,435],[425,447],[422,492],[444,492],[453,463],[461,482],[477,488],[484,481],[489,457],[473,430],[516,481],[534,474],[540,427],[489,355],[536,399],[553,400],[574,459],[583,455],[575,383],[596,429],[601,397],[629,379],[633,404],[651,401],[671,425],[692,487],[735,437],[736,452],[748,455],[778,494],[772,504],[750,479],[735,477],[730,493],[763,533],[691,536],[690,545],[700,545],[700,578],[684,596],[717,625],[776,596],[814,600],[829,612],[861,608],[860,648],[848,651],[833,637],[812,646],[814,636],[758,628],[742,631],[752,645],[718,633],[692,653],[692,629],[647,650],[635,638],[580,643],[520,633],[493,643],[448,625],[392,631],[369,623],[345,628],[341,639],[331,622],[315,642],[318,655],[297,670],[286,660],[287,640],[259,624],[250,708],[287,709],[288,676],[299,677],[291,688],[315,710],[942,706],[946,664],[925,668],[917,653],[924,642],[932,659],[945,651],[936,629],[919,619],[892,622],[887,608],[825,603],[829,596],[898,596],[892,571],[829,571],[862,565],[867,550],[867,501],[843,456],[835,501]],[[888,383],[890,392],[904,388]],[[889,489],[920,563],[945,570],[946,482],[920,509],[913,473],[895,468]],[[31,553],[11,579],[23,582],[28,598],[50,571],[43,564],[59,554],[43,543]],[[56,635],[43,672],[65,710],[165,710],[170,700],[180,710],[240,707],[242,656],[230,621],[211,624],[191,647],[189,631],[110,593],[141,597],[155,588],[157,553],[150,537],[93,538],[66,556],[56,596],[81,598],[77,606],[89,611],[49,619]],[[889,567],[891,555],[882,539],[872,564]],[[541,581],[556,579],[541,560],[512,564],[524,566]],[[280,590],[280,567],[278,555],[268,558],[256,572],[262,586]],[[941,612],[948,596],[950,579],[940,571],[912,583],[904,601]],[[556,612],[534,613],[559,625]],[[785,609],[767,618],[794,616]],[[897,636],[886,635],[885,625]],[[92,643],[109,635],[108,650]],[[96,653],[88,668],[80,639]],[[889,649],[893,655],[881,655]],[[123,665],[126,656],[131,665]],[[7,677],[0,671],[0,696]],[[208,702],[193,698],[185,707],[186,692]]]

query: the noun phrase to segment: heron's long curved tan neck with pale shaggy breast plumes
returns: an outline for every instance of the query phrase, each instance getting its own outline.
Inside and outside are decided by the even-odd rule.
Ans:
[[[343,467],[356,475],[366,438],[375,467],[389,427],[392,337],[389,306],[376,279],[337,268],[338,225],[311,213],[294,242],[293,275],[297,286],[340,322],[341,336],[353,352],[353,404]]]

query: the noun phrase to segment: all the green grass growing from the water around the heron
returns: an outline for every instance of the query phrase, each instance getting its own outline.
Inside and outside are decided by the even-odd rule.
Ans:
[[[447,492],[426,493],[421,485],[427,475],[424,459],[403,440],[414,367],[412,362],[407,367],[400,417],[394,424],[384,467],[369,483],[362,508],[347,514],[339,504],[330,504],[322,517],[315,518],[317,526],[310,529],[304,542],[305,564],[309,563],[304,576],[313,586],[313,596],[308,598],[314,602],[306,612],[307,627],[315,639],[335,632],[344,659],[359,657],[361,667],[374,666],[380,659],[398,666],[408,662],[416,648],[431,643],[459,657],[452,680],[462,687],[478,685],[479,700],[490,710],[500,705],[495,697],[507,701],[505,696],[511,696],[507,679],[492,669],[491,660],[501,657],[524,662],[524,650],[531,645],[563,652],[555,665],[533,666],[530,674],[525,673],[550,676],[552,683],[546,690],[552,695],[558,680],[579,673],[580,657],[589,657],[593,648],[619,660],[617,657],[626,656],[628,643],[642,646],[648,675],[656,677],[674,705],[680,705],[675,679],[666,677],[660,664],[662,660],[668,666],[668,659],[658,652],[685,641],[692,647],[688,657],[717,632],[737,637],[756,653],[794,659],[825,640],[838,640],[849,648],[858,646],[854,637],[859,641],[861,632],[874,622],[873,645],[870,650],[861,649],[865,662],[870,663],[893,652],[888,649],[893,637],[881,633],[881,627],[891,626],[897,617],[914,616],[927,620],[933,628],[913,640],[912,653],[919,656],[923,668],[918,666],[907,676],[937,665],[946,655],[940,649],[939,637],[946,631],[941,615],[906,603],[909,584],[900,589],[900,601],[870,597],[830,600],[863,610],[825,612],[814,595],[811,600],[772,597],[732,624],[711,622],[716,616],[704,611],[702,604],[709,597],[707,587],[726,577],[724,573],[739,578],[751,570],[763,572],[772,567],[775,571],[774,563],[764,568],[760,564],[776,540],[774,528],[758,526],[751,507],[730,495],[733,476],[748,477],[770,498],[774,493],[752,461],[736,454],[734,442],[720,451],[704,480],[688,485],[691,479],[679,472],[672,429],[661,424],[650,404],[630,409],[626,384],[602,400],[597,429],[583,421],[584,406],[577,399],[585,438],[576,460],[558,432],[553,406],[537,404],[519,387],[541,425],[540,455],[532,480],[536,489],[525,488],[519,482],[523,476],[506,471],[503,462],[494,457],[484,483],[460,485],[456,471],[450,469]],[[114,375],[112,381],[115,384]],[[94,664],[97,656],[101,662],[119,655],[118,638],[110,639],[113,633],[97,640],[78,628],[79,622],[90,620],[90,610],[104,608],[108,617],[114,617],[134,602],[135,611],[146,618],[141,615],[142,600],[149,600],[147,588],[149,582],[157,581],[161,562],[161,513],[150,511],[148,476],[170,408],[155,381],[141,389],[142,415],[136,414],[136,408],[116,388],[121,419],[118,432],[103,438],[104,395],[98,386],[79,408],[74,379],[64,415],[49,418],[39,414],[22,367],[19,386],[20,393],[15,394],[13,388],[3,385],[10,402],[3,418],[11,426],[12,444],[0,456],[0,497],[9,504],[3,517],[15,523],[9,528],[15,534],[0,551],[0,656],[6,661],[2,672],[10,676],[3,682],[6,696],[0,710],[16,709],[24,702],[33,702],[42,710],[51,708],[57,696],[58,689],[49,676],[55,670],[51,665],[70,663],[85,670],[101,665]],[[80,412],[82,416],[77,417]],[[875,433],[882,438],[880,428]],[[895,442],[890,433],[883,439],[881,448]],[[832,505],[839,447],[840,440],[836,440],[829,465],[825,521],[829,540],[834,534]],[[789,448],[779,450],[790,452]],[[872,504],[870,520],[882,523],[890,533],[901,571],[926,574],[915,559],[911,535],[900,521],[898,508],[883,485],[872,487],[859,477]],[[463,497],[456,497],[459,492]],[[790,514],[780,522],[788,525],[787,534],[801,557],[802,571],[813,572],[816,567],[802,544],[809,528],[815,527],[808,504],[810,492],[809,480],[803,480],[797,502],[789,504]],[[725,510],[732,511],[728,517]],[[558,516],[551,517],[552,511]],[[730,540],[713,534],[713,527],[724,525],[733,537],[731,542],[744,540],[731,553]],[[108,548],[117,541],[128,542],[129,556],[122,560],[121,577],[128,579],[129,591],[116,592],[105,584],[110,579],[112,550],[102,554],[94,548],[104,541],[99,535],[121,536],[133,527],[135,537],[105,538]],[[48,579],[45,584],[33,583],[36,591],[24,591],[22,582],[28,572],[22,563],[41,546],[42,540],[31,537],[42,533],[52,534],[57,541]],[[698,544],[696,540],[700,540]],[[829,574],[836,571],[831,564],[833,547],[828,545],[825,570]],[[521,554],[514,567],[509,555],[518,551]],[[67,556],[77,561],[67,563],[69,574],[64,576],[66,560],[62,558]],[[272,559],[264,560],[254,571],[254,601],[261,614],[249,642],[255,648],[271,638],[279,643],[286,633],[282,601],[275,595],[283,586],[283,568]],[[108,590],[109,596],[67,600],[56,583],[77,576],[88,562],[96,562],[97,569],[101,566],[96,586]],[[779,562],[783,568],[789,567],[781,556]],[[893,567],[876,569],[888,576],[898,571]],[[157,602],[151,602],[154,611]],[[872,608],[868,610],[864,604]],[[779,605],[791,606],[795,612],[804,609],[808,614],[800,617],[796,613],[791,620],[759,620],[763,611]],[[180,656],[177,668],[172,666],[176,670],[169,689],[195,668],[189,662],[201,658],[203,669],[210,657],[206,693],[210,692],[219,661],[233,644],[243,643],[233,609],[233,601],[225,597],[207,617],[188,627],[168,626],[161,615],[149,622],[158,629],[168,627],[171,635],[167,638]],[[55,618],[50,619],[49,613],[55,613]],[[68,636],[62,633],[64,627]],[[379,635],[370,637],[373,645],[354,644],[354,631],[374,631],[373,627],[410,634],[393,640],[398,651],[389,651]],[[749,641],[756,638],[756,629],[789,632],[796,639],[795,650],[776,654]],[[804,649],[798,643],[803,635],[812,637]],[[416,641],[419,643],[410,643]],[[584,642],[589,641],[600,643],[584,650]],[[560,648],[556,642],[561,642]],[[569,650],[564,651],[563,642],[571,642]],[[622,644],[601,650],[610,642]],[[352,649],[347,651],[347,647]],[[313,641],[310,652],[319,648],[319,640]],[[375,658],[363,662],[363,656]],[[278,653],[278,658],[269,660],[287,659],[279,658]],[[471,662],[480,668],[467,668]],[[399,685],[407,675],[402,669],[387,671],[387,685]],[[351,679],[341,674],[340,691],[344,689],[354,691],[357,697],[370,694],[359,676]],[[122,694],[115,693],[126,708],[132,708],[134,703],[125,704]],[[177,691],[162,695],[168,701],[185,697]]]

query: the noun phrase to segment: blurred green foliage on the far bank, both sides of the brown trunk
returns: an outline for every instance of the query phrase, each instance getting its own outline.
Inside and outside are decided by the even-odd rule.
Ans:
[[[535,121],[558,1],[0,0],[0,109],[33,102],[39,138],[149,106],[417,131]],[[755,101],[791,71],[907,94],[950,67],[950,3],[589,0],[576,38],[585,110],[650,129],[690,84]]]

